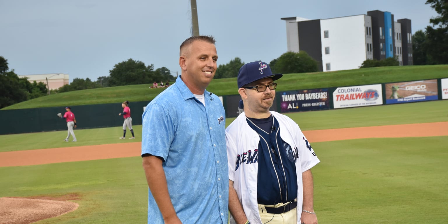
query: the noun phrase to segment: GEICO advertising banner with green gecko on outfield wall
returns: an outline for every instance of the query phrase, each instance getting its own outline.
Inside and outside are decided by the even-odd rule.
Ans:
[[[438,99],[437,79],[386,83],[386,104]]]

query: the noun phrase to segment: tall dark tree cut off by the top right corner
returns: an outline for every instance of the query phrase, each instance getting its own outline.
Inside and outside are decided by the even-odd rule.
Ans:
[[[437,64],[448,64],[448,1],[427,0],[431,8],[439,14],[429,20],[426,26],[427,52]]]

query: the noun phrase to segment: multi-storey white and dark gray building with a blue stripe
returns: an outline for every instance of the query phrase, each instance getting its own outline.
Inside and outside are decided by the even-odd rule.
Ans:
[[[329,19],[281,19],[286,22],[288,51],[307,52],[319,62],[320,71],[358,69],[364,60],[393,56],[400,65],[412,65],[409,19],[393,22],[391,13],[378,10]]]

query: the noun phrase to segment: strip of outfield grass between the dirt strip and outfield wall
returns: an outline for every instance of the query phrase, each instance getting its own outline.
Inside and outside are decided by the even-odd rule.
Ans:
[[[448,100],[438,100],[285,114],[296,121],[302,130],[320,130],[448,121],[446,108],[448,108]],[[226,125],[233,120],[235,118],[227,118]],[[123,134],[121,126],[75,129],[78,142],[64,142],[63,139],[67,136],[67,131],[0,135],[0,142],[2,142],[0,152],[142,141],[140,136],[142,125],[133,125],[133,128],[136,138],[132,140],[118,139]],[[128,132],[126,137],[130,136]],[[35,142],[39,142],[39,144],[35,144]]]

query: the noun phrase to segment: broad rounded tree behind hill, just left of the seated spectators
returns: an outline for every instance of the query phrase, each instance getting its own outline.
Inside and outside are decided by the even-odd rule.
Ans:
[[[109,86],[152,83],[154,65],[146,66],[142,61],[130,58],[114,65],[109,73]]]

